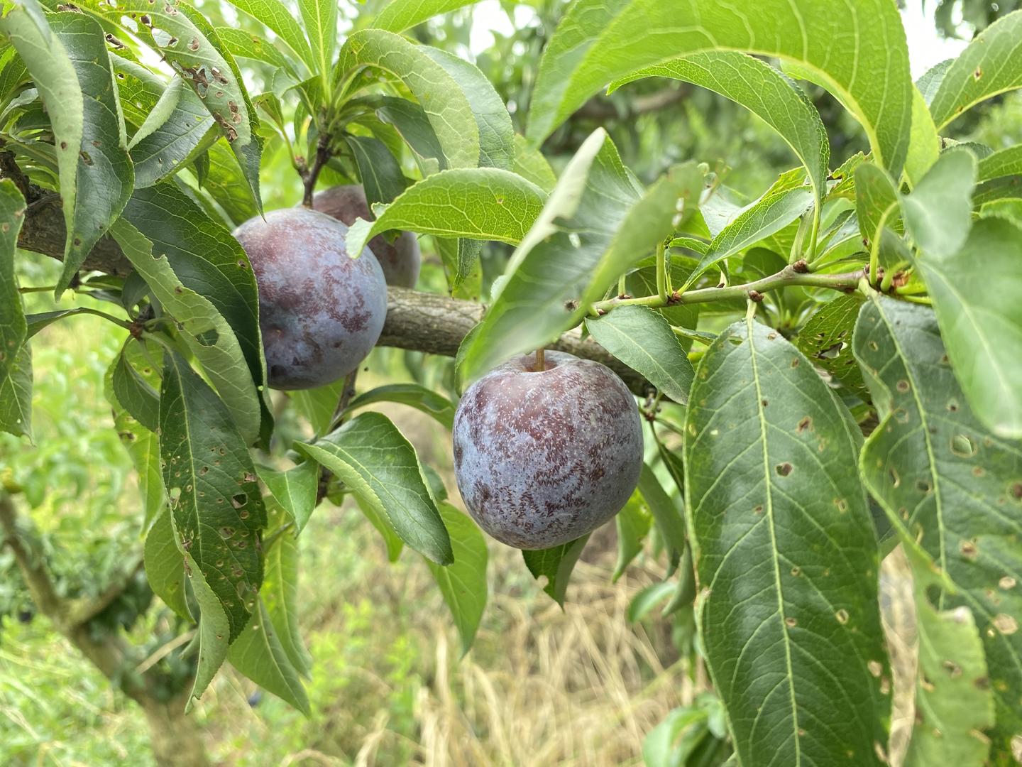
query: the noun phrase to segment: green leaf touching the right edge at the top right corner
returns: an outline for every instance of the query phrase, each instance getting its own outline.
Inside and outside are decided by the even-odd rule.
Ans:
[[[1022,12],[1015,11],[979,33],[947,66],[930,101],[938,129],[980,101],[1022,86],[1020,37]]]

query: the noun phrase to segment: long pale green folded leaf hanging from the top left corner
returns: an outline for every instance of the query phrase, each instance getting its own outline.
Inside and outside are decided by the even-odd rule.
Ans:
[[[78,73],[63,43],[50,33],[37,0],[24,0],[14,5],[7,15],[0,18],[0,32],[10,40],[32,75],[32,81],[39,90],[53,129],[53,151],[56,153],[60,176],[60,200],[64,226],[68,232],[64,246],[66,259],[72,253],[75,237],[82,236],[77,231],[76,210],[78,170],[82,164],[79,153],[85,131],[85,103]],[[105,56],[105,51],[103,55]],[[92,232],[89,232],[87,237],[91,236]],[[85,258],[84,254],[82,258]],[[67,271],[67,267],[64,267],[64,271]],[[66,279],[69,280],[69,276]],[[63,277],[60,283],[66,284]],[[10,380],[5,381],[5,385],[9,384]]]

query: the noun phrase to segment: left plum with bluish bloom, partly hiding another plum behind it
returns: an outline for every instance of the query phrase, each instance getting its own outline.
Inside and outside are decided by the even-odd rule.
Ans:
[[[308,208],[271,211],[234,230],[259,286],[260,328],[273,389],[312,389],[366,358],[386,318],[386,282],[365,249],[344,246],[347,227]]]

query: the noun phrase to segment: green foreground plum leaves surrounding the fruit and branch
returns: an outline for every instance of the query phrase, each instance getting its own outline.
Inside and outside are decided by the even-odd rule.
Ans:
[[[1022,11],[914,83],[892,0],[574,0],[521,136],[478,69],[402,34],[466,2],[392,0],[346,37],[333,0],[231,3],[272,42],[182,0],[7,0],[0,18],[0,427],[31,439],[30,340],[85,311],[27,316],[14,276],[19,231],[58,195],[56,296],[108,301],[130,331],[107,397],[149,584],[197,624],[192,696],[228,661],[308,710],[294,540],[324,497],[353,495],[392,557],[425,559],[466,650],[486,601],[482,535],[372,409],[450,430],[444,393],[295,393],[315,438],[279,444],[230,233],[262,215],[272,144],[307,204],[321,179],[364,187],[349,254],[432,237],[451,295],[485,304],[459,388],[573,328],[648,385],[618,574],[644,545],[668,561],[635,614],[694,616],[730,743],[689,712],[650,734],[651,763],[886,763],[878,585],[898,545],[920,639],[905,764],[1022,762],[1022,146],[954,138],[1022,86]],[[700,157],[643,184],[597,130],[555,175],[544,140],[645,78],[748,108],[797,166],[753,200]],[[798,81],[869,153],[835,167]],[[90,254],[110,238],[127,267],[103,273]],[[489,296],[483,242],[513,251]],[[585,543],[524,552],[559,602]]]

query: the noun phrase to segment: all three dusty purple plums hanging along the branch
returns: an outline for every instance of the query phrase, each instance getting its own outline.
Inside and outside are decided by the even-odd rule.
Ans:
[[[412,287],[421,255],[410,232],[350,258],[347,227],[372,214],[363,188],[317,193],[234,231],[256,273],[270,386],[311,389],[355,370],[386,317],[386,286]],[[458,489],[503,543],[543,549],[614,516],[642,468],[635,400],[609,368],[570,354],[512,359],[466,390],[454,421]]]

